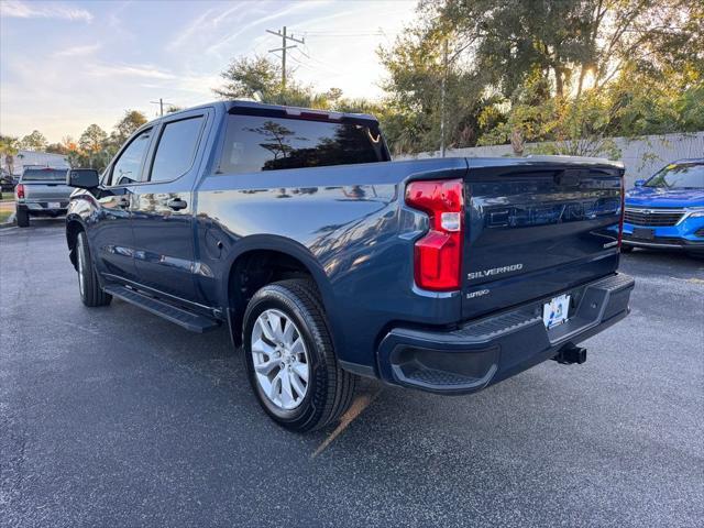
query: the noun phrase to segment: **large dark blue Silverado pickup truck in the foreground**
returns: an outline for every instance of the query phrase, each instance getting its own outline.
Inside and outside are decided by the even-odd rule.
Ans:
[[[152,121],[105,173],[70,170],[86,306],[227,324],[264,410],[337,420],[358,376],[466,394],[626,317],[623,166],[392,162],[371,116],[230,101]],[[556,395],[558,397],[558,395]]]

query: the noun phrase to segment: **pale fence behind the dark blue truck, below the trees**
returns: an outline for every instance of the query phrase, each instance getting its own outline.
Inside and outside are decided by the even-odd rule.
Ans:
[[[638,140],[615,138],[622,152],[620,161],[626,166],[626,187],[632,187],[636,179],[648,178],[663,165],[675,160],[704,157],[704,132],[689,134],[647,135]],[[526,152],[537,143],[527,143]],[[504,157],[513,156],[510,145],[474,146],[447,151],[448,157]],[[437,157],[440,151],[416,155],[398,156],[397,160]]]

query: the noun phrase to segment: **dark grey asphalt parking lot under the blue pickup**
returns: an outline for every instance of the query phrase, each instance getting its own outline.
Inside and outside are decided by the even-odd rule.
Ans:
[[[1,230],[0,525],[702,526],[704,261],[622,262],[632,312],[584,365],[366,383],[344,430],[299,436],[224,329],[85,308],[61,220]]]

